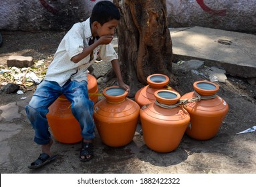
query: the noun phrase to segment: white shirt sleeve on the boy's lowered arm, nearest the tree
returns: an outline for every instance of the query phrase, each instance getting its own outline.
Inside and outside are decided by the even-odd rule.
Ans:
[[[112,61],[113,59],[118,59],[118,54],[110,43],[108,45],[100,45],[100,57],[103,61]]]

